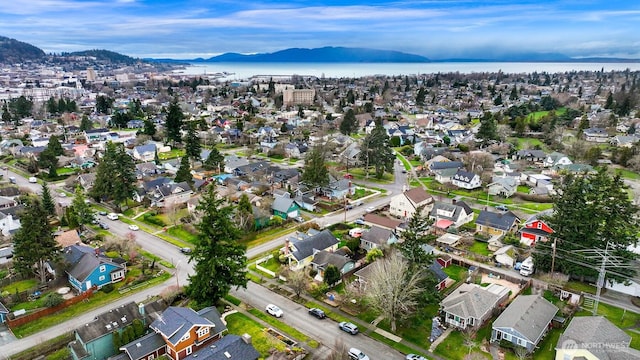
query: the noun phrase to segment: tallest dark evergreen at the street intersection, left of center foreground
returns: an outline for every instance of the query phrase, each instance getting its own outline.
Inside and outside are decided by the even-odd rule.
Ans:
[[[202,219],[189,257],[189,262],[195,263],[195,274],[189,276],[186,292],[198,305],[206,306],[227,295],[232,286],[247,286],[246,247],[238,242],[235,209],[217,196],[215,185],[207,187],[197,210]]]

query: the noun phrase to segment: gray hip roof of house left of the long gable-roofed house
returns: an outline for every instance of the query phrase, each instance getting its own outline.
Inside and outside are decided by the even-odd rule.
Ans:
[[[501,286],[502,287],[502,286]],[[495,309],[503,298],[498,288],[481,287],[476,284],[462,284],[440,302],[442,309],[461,318],[482,319]]]

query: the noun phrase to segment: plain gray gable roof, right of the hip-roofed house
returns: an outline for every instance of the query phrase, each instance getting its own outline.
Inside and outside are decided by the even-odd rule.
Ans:
[[[493,328],[517,331],[536,344],[558,308],[540,295],[520,295],[493,322]]]

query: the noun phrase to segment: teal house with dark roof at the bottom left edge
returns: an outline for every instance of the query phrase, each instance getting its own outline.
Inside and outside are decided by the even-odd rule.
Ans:
[[[135,320],[145,321],[144,306],[130,302],[96,316],[73,331],[68,347],[73,360],[107,359],[116,354],[113,333],[122,333]]]

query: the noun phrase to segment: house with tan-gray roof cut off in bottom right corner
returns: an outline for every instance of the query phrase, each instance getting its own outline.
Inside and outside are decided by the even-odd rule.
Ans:
[[[555,359],[640,359],[630,344],[631,336],[604,316],[576,316],[558,339]]]

